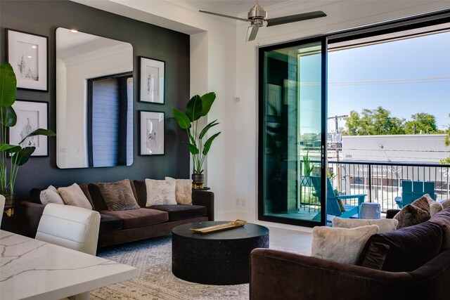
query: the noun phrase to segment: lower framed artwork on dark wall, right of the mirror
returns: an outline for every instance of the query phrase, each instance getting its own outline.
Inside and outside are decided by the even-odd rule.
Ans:
[[[141,110],[139,113],[139,155],[163,155],[164,112]]]

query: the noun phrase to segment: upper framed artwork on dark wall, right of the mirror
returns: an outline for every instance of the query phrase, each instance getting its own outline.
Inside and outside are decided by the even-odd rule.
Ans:
[[[141,60],[141,89],[139,100],[164,104],[165,62],[139,57]]]

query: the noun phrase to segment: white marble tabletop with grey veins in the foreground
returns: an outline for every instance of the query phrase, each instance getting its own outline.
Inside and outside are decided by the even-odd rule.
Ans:
[[[61,299],[138,275],[134,267],[0,230],[0,299]]]

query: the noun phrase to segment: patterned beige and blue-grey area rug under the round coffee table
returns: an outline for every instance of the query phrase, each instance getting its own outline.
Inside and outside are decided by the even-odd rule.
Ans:
[[[91,292],[91,299],[244,300],[248,284],[200,285],[172,274],[172,236],[110,247],[97,254],[139,269],[137,278]]]

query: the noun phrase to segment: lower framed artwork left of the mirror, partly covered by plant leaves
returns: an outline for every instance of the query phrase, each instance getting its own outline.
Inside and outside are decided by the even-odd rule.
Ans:
[[[13,108],[17,115],[17,123],[15,126],[9,127],[10,144],[18,145],[25,136],[38,128],[48,129],[49,103],[15,100]],[[49,143],[46,136],[31,136],[26,138],[20,146],[36,147],[32,156],[49,155]]]

